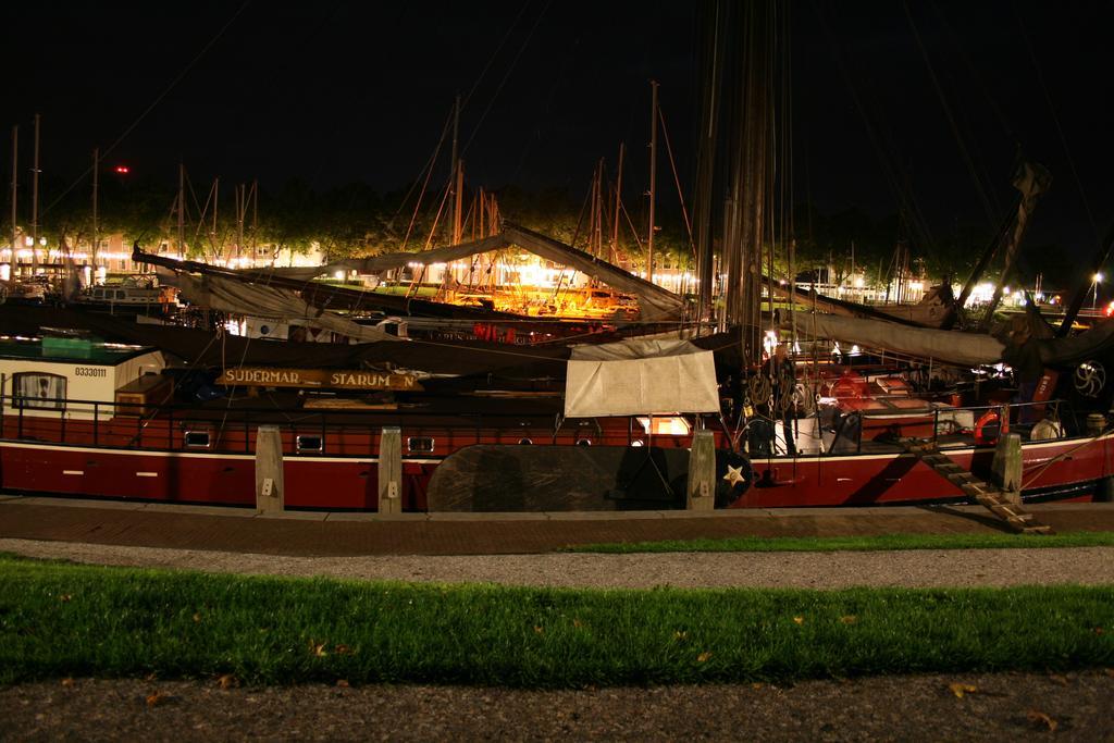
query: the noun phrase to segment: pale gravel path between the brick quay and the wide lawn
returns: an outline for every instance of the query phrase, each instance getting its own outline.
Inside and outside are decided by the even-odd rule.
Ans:
[[[577,588],[1110,585],[1114,547],[870,553],[361,555],[291,557],[0,539],[27,557],[253,575]]]

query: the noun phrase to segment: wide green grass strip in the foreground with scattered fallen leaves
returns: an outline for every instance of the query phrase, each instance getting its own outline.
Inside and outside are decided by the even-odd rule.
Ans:
[[[578,687],[1103,665],[1114,587],[573,590],[0,557],[0,683],[155,673]]]

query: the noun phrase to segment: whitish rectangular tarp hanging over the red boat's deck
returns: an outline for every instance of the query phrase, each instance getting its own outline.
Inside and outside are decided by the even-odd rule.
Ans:
[[[566,418],[719,410],[720,392],[711,351],[652,359],[573,359],[568,362]]]

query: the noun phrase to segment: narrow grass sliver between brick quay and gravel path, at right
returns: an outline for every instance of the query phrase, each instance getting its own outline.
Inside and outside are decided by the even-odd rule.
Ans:
[[[574,553],[831,553],[883,549],[1009,549],[1034,547],[1114,547],[1112,531],[1057,535],[889,534],[877,537],[727,537],[632,541],[570,547]]]

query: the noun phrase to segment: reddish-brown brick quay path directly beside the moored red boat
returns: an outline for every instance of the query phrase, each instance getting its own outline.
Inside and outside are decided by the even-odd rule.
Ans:
[[[1114,530],[1114,504],[1037,505],[1057,531]],[[1004,527],[977,506],[608,514],[373,514],[0,496],[0,537],[263,555],[480,555],[698,537],[973,534]],[[1039,537],[1034,537],[1039,538]]]

